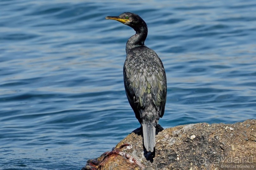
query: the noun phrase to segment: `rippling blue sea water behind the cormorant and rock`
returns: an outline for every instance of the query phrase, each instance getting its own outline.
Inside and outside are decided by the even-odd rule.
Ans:
[[[159,123],[256,118],[254,0],[0,0],[0,169],[79,170],[140,126],[123,85],[135,32],[167,74]]]

